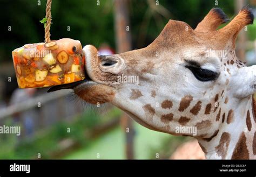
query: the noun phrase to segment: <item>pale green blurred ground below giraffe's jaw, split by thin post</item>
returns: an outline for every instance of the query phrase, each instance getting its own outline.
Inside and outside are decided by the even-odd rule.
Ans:
[[[174,137],[170,134],[152,131],[143,126],[134,123],[136,136],[134,140],[135,159],[155,159],[156,153],[159,157],[163,152],[163,145],[175,141],[176,146],[166,147],[166,150],[172,152],[177,147],[177,139],[184,137]],[[180,143],[180,141],[178,142]],[[164,153],[164,152],[163,152]],[[99,155],[97,157],[97,155]],[[169,158],[168,156],[164,158]],[[120,128],[115,128],[93,141],[89,146],[80,148],[72,152],[63,159],[125,159],[125,134]]]

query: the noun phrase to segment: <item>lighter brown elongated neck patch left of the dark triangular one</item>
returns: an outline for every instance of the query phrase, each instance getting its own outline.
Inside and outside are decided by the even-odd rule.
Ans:
[[[228,145],[230,145],[230,133],[224,132],[221,134],[219,145],[215,147],[215,150],[222,159],[225,159],[227,155]]]

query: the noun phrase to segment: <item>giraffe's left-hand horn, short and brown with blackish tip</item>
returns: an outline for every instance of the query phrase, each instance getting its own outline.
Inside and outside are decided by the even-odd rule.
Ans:
[[[229,19],[220,8],[211,9],[203,20],[197,25],[195,31],[215,31],[220,24],[226,23]]]

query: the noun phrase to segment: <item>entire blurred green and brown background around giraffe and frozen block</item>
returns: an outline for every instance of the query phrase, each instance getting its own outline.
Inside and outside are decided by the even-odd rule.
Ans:
[[[18,89],[11,51],[44,41],[46,0],[0,2],[0,126],[21,126],[21,136],[0,134],[0,159],[169,159],[191,140],[146,129],[109,104],[87,105],[72,90]],[[211,8],[232,18],[246,4],[256,16],[256,0],[52,0],[50,33],[120,53],[149,45],[169,19],[194,28]],[[255,20],[246,30],[236,52],[253,65]]]

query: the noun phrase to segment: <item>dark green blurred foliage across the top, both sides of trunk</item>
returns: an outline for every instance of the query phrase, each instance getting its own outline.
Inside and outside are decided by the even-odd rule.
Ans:
[[[11,61],[13,49],[44,41],[44,27],[39,20],[45,16],[46,0],[0,2],[3,7],[0,11],[0,61]],[[228,17],[234,14],[233,0],[131,0],[132,46],[139,48],[150,44],[169,18],[182,20],[196,27],[213,7],[222,8]],[[144,29],[142,25],[145,26]],[[50,32],[52,40],[73,38],[80,40],[82,45],[93,44],[96,47],[106,42],[114,48],[113,1],[53,0]]]

